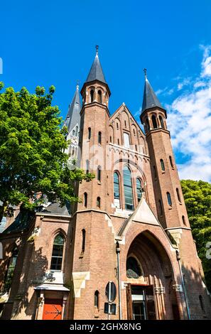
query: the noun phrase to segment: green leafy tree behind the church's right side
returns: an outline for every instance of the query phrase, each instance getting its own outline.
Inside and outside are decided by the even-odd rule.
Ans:
[[[207,259],[207,242],[211,242],[211,184],[204,181],[181,181],[190,226],[202,260],[207,288],[211,291],[211,259]]]

